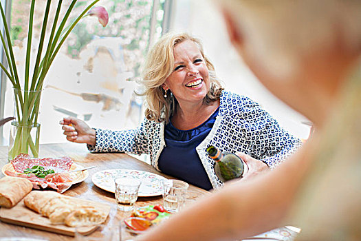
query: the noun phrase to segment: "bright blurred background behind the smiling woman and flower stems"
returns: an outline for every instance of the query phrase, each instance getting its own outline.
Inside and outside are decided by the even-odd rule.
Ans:
[[[15,58],[22,66],[30,0],[0,1],[8,6]],[[89,1],[78,1],[74,16],[85,8],[86,2]],[[34,34],[38,38],[45,3],[36,1]],[[53,3],[54,11],[56,4]],[[108,25],[102,28],[95,17],[80,21],[47,74],[39,116],[41,143],[67,141],[58,125],[64,116],[83,119],[91,127],[137,127],[144,118],[144,101],[133,91],[144,56],[149,46],[168,31],[188,32],[201,39],[226,90],[252,98],[291,134],[308,138],[309,121],[265,90],[237,56],[212,1],[102,0],[97,6],[104,6],[109,12]],[[36,55],[35,48],[33,52]],[[12,85],[3,74],[0,93],[0,118],[13,116]],[[8,145],[9,133],[10,125],[0,129],[0,145]]]

